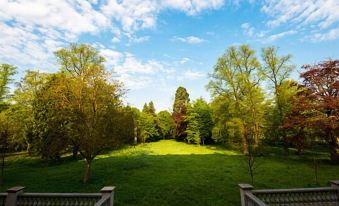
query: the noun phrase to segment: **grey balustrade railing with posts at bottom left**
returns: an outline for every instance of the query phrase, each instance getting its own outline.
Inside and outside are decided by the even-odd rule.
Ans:
[[[0,206],[113,206],[114,187],[101,193],[24,193],[14,187],[0,193]]]

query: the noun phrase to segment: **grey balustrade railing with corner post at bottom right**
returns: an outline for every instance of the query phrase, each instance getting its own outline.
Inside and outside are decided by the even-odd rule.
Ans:
[[[339,181],[331,187],[253,190],[248,184],[239,184],[242,206],[339,206]]]

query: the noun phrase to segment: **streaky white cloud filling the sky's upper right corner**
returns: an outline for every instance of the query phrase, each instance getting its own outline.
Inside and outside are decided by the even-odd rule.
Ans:
[[[339,38],[338,0],[265,0],[261,11],[269,16],[266,25],[270,28],[288,27],[313,33],[309,38],[317,41]]]

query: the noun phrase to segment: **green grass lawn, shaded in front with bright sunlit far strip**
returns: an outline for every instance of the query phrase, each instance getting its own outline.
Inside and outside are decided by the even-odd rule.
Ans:
[[[258,160],[257,188],[313,185],[311,162],[275,152]],[[221,147],[172,140],[139,145],[98,157],[89,183],[82,183],[83,161],[64,158],[47,164],[23,154],[8,158],[5,185],[32,192],[98,192],[116,186],[116,205],[239,205],[238,183],[249,183],[244,157]],[[339,179],[339,166],[320,165],[321,185]]]

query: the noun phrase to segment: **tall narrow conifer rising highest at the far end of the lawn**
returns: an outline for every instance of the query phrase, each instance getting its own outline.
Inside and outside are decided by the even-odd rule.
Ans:
[[[189,94],[184,87],[178,87],[175,92],[172,117],[176,124],[175,138],[179,141],[186,140],[187,133],[187,105],[189,103]]]

